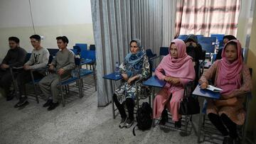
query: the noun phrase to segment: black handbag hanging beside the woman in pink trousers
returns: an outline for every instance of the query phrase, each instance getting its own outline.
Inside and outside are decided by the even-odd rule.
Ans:
[[[193,96],[188,96],[181,99],[179,113],[181,115],[192,115],[200,113],[200,106],[198,99]]]

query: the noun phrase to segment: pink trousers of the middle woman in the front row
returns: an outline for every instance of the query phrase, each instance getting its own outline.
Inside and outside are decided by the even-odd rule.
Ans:
[[[164,110],[164,106],[172,115],[173,121],[178,121],[181,115],[178,113],[181,99],[183,98],[184,89],[179,89],[174,92],[173,89],[161,89],[154,99],[154,113],[153,118],[160,118],[161,113]],[[169,101],[170,95],[172,94],[171,101]]]

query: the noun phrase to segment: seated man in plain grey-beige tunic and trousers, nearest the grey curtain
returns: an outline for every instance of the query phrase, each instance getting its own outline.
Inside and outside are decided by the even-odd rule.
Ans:
[[[60,51],[56,53],[56,57],[51,62],[48,74],[39,82],[39,87],[43,94],[48,97],[46,104],[43,107],[48,107],[48,111],[55,109],[58,106],[58,84],[59,76],[61,79],[68,79],[71,70],[75,68],[75,55],[71,50],[68,50],[68,38],[59,36],[56,38]]]

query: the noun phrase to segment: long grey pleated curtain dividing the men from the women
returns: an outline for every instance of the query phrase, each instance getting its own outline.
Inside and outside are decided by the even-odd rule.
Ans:
[[[111,102],[110,81],[103,75],[114,72],[129,52],[132,38],[142,40],[143,48],[159,53],[169,46],[175,33],[176,1],[169,0],[91,0],[96,46],[98,106]]]

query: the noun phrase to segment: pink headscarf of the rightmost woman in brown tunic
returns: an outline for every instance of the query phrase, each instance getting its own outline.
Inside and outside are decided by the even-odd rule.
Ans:
[[[238,59],[230,63],[225,57],[225,48],[230,42],[235,42],[238,48]],[[242,85],[241,72],[242,72],[242,54],[241,44],[238,40],[230,40],[225,44],[223,52],[221,53],[222,59],[219,62],[218,77],[216,80],[217,87],[223,89],[221,94],[230,94],[234,89],[239,89]]]

